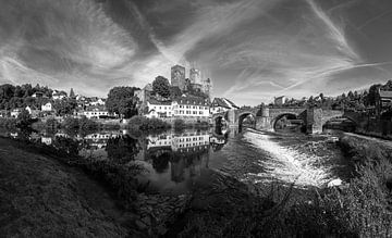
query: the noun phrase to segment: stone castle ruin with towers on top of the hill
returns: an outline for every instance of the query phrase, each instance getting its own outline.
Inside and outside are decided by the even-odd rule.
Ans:
[[[210,78],[203,79],[201,72],[192,67],[189,70],[189,78],[185,78],[185,67],[174,65],[171,67],[171,86],[179,87],[181,91],[200,91],[211,97],[212,82]]]

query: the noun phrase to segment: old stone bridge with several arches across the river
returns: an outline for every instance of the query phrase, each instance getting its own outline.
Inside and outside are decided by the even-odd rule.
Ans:
[[[343,111],[322,110],[313,108],[249,108],[231,110],[228,112],[213,114],[212,120],[216,123],[224,118],[231,127],[238,127],[241,130],[245,117],[252,115],[255,118],[255,128],[264,130],[273,130],[275,123],[285,115],[292,115],[302,120],[306,126],[306,133],[321,133],[322,126],[331,118],[345,116],[356,123],[351,115],[345,115]]]

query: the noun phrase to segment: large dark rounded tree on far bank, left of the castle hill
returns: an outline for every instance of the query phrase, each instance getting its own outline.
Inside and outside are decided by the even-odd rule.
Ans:
[[[134,96],[135,87],[114,87],[110,89],[106,107],[110,113],[118,113],[125,118],[130,118],[137,114],[136,102]]]

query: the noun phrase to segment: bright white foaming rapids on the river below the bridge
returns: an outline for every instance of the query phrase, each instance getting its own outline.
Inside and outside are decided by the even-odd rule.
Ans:
[[[248,174],[256,177],[256,183],[270,183],[281,180],[287,184],[295,183],[295,186],[326,185],[332,177],[331,167],[318,163],[322,158],[301,153],[287,147],[280,146],[271,140],[271,136],[259,133],[246,131],[245,141],[253,147],[266,151],[270,156],[259,160],[265,172]]]

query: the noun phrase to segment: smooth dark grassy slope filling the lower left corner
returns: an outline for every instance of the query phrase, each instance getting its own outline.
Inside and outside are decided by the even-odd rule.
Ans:
[[[114,200],[95,180],[17,141],[0,145],[1,236],[126,236]]]

